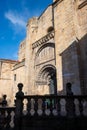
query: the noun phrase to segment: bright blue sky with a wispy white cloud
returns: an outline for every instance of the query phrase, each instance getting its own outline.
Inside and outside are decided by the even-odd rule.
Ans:
[[[39,16],[53,0],[0,0],[0,58],[17,59],[29,18]]]

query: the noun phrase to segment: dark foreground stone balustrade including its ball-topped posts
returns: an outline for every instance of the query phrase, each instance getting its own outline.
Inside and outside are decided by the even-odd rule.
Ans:
[[[30,127],[30,124],[35,125],[37,121],[39,125],[44,125],[48,122],[55,122],[57,125],[62,123],[67,124],[70,121],[86,125],[87,121],[87,95],[73,95],[70,90],[67,95],[32,95],[25,96],[22,92],[23,84],[18,84],[19,91],[16,93],[15,106],[7,105],[6,96],[0,106],[0,129],[1,130],[22,130],[25,126]],[[31,122],[32,119],[32,123]],[[40,119],[40,120],[39,120]],[[44,120],[45,119],[45,120]],[[51,119],[51,120],[50,120]],[[62,120],[61,120],[62,119]],[[77,119],[77,120],[76,120]],[[66,123],[65,123],[66,122]],[[36,123],[38,125],[38,122]],[[41,127],[42,127],[41,125]],[[72,125],[73,126],[73,125]],[[83,126],[81,127],[83,129]],[[58,128],[58,126],[56,126]],[[76,128],[76,127],[74,127]],[[78,128],[78,127],[77,127]],[[86,125],[87,128],[87,125]],[[53,128],[54,129],[54,128]],[[68,127],[68,130],[70,128]],[[73,128],[72,128],[73,129]],[[35,129],[36,130],[36,129]]]

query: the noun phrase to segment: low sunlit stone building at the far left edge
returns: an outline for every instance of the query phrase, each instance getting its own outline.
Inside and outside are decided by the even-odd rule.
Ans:
[[[13,66],[16,61],[0,60],[0,96],[7,95],[7,100],[11,101],[13,98]]]

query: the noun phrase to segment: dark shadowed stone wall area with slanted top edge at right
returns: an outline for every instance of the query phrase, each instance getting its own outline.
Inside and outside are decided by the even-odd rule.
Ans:
[[[72,84],[74,95],[87,94],[87,35],[72,44],[60,54],[62,58],[63,90],[66,94],[66,84]]]

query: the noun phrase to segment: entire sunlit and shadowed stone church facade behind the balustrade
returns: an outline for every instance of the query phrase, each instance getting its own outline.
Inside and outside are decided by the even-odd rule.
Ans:
[[[53,0],[29,19],[18,61],[0,59],[0,95],[87,94],[87,0]]]

